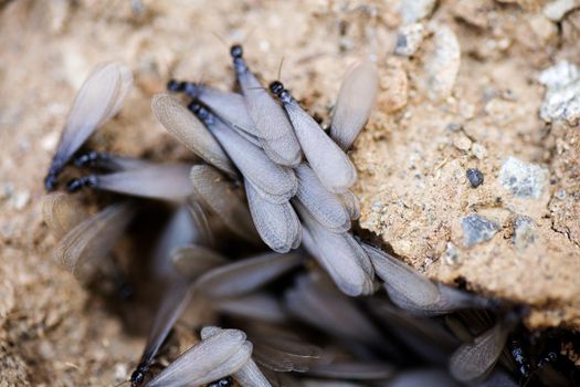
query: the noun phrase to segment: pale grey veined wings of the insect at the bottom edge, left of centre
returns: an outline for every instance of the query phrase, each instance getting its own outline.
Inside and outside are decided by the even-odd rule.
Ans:
[[[252,346],[247,344],[243,332],[221,330],[188,349],[146,386],[197,386],[231,375],[250,358]]]

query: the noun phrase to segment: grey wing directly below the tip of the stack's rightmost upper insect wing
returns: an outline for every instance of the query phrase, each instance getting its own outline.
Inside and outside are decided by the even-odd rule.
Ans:
[[[295,169],[298,177],[296,198],[320,224],[334,232],[350,229],[350,216],[340,198],[329,192],[306,164]]]

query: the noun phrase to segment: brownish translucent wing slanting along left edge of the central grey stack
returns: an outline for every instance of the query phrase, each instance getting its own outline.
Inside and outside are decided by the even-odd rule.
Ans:
[[[220,217],[231,231],[252,242],[260,240],[247,203],[231,181],[204,165],[193,166],[190,178],[196,197]]]

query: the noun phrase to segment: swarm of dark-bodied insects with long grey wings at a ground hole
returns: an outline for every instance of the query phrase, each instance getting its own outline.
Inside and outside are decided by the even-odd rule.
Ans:
[[[359,206],[349,188],[357,175],[346,150],[370,114],[375,65],[363,61],[347,73],[328,135],[280,82],[271,84],[272,94],[262,86],[241,46],[231,55],[242,94],[171,81],[170,91],[192,98],[188,107],[166,93],[152,97],[160,124],[202,161],[161,164],[89,151],[77,164],[101,171],[71,180],[66,189],[109,191],[110,203],[80,216],[63,194],[45,200],[46,222],[61,238],[55,257],[83,278],[103,271],[99,262],[115,266],[115,242],[149,201],[171,212],[149,268],[160,296],[127,383],[379,386],[436,375],[447,385],[485,384],[488,377],[517,385],[505,376],[515,370],[510,358],[500,356],[523,317],[519,310],[434,283],[352,231]],[[118,72],[99,69],[96,74]],[[118,77],[107,82],[117,84]],[[57,150],[48,189],[120,107],[113,86],[88,90],[91,81],[80,92],[94,93],[91,103],[75,102],[70,117],[96,115],[91,104],[114,108],[91,116],[91,132],[68,123],[61,144],[74,146],[59,146],[67,150]],[[125,86],[117,87],[126,95]],[[201,328],[199,341],[156,367],[171,330],[198,303],[213,313],[188,326]]]

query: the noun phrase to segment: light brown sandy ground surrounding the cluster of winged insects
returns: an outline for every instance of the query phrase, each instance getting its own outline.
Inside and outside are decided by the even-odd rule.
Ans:
[[[434,279],[531,305],[530,327],[580,327],[580,135],[573,121],[540,118],[538,81],[580,57],[580,11],[440,1],[404,56],[392,54],[398,31],[416,14],[399,1],[143,6],[0,1],[0,386],[110,385],[141,352],[143,336],[53,262],[42,223],[42,178],[84,77],[118,59],[136,79],[95,147],[177,158],[187,153],[155,122],[150,96],[170,76],[231,87],[228,45],[239,41],[265,81],[284,59],[283,82],[324,124],[345,71],[372,55],[378,108],[352,151],[360,227]]]

